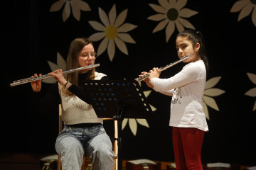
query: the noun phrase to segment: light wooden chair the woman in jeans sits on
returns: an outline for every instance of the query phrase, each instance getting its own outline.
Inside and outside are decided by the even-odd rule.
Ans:
[[[59,105],[59,132],[61,132],[61,130],[63,129],[62,127],[62,119],[61,119],[61,115],[62,115],[62,108],[61,105]],[[104,118],[103,120],[112,120],[112,118]],[[118,138],[118,132],[117,132],[117,120],[114,120],[114,138],[117,139]],[[114,146],[113,146],[113,150],[114,150],[114,170],[117,170],[118,166],[118,146],[117,146],[117,140],[114,140]],[[82,167],[81,169],[85,169],[85,164],[87,162],[90,161],[89,157],[84,157],[83,159],[83,163],[82,163]],[[91,165],[90,165],[91,166]],[[60,163],[60,154],[58,155],[58,170],[61,170],[61,163]]]

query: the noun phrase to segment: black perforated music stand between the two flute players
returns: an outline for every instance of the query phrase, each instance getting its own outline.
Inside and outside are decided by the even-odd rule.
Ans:
[[[122,121],[124,118],[156,118],[136,80],[81,81],[98,118],[117,120],[118,169],[122,170]]]

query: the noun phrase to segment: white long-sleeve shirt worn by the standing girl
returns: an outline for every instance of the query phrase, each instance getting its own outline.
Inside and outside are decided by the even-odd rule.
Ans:
[[[153,78],[151,83],[155,91],[173,96],[170,126],[208,131],[202,99],[206,85],[206,67],[202,60],[186,64],[174,77]]]

